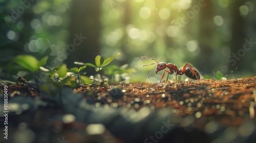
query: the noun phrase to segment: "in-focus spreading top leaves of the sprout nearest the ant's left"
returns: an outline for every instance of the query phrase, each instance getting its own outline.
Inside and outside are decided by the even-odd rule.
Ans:
[[[111,61],[113,61],[117,56],[120,55],[120,52],[117,53],[115,56],[113,57],[109,57],[104,59],[102,56],[96,56],[95,57],[95,65],[92,63],[82,63],[82,62],[74,62],[75,64],[79,64],[79,65],[87,65],[87,66],[91,66],[95,68],[95,71],[99,71],[102,69],[103,66],[108,65]]]

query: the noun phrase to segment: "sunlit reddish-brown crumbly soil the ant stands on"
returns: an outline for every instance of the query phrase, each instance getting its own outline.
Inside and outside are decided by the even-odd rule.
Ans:
[[[151,109],[169,107],[176,115],[194,115],[204,124],[216,120],[224,126],[239,126],[244,119],[254,118],[256,102],[256,78],[233,80],[207,80],[208,82],[178,82],[151,84],[136,83],[80,87],[74,92],[92,97],[94,103],[112,107],[127,107],[136,111],[142,107]],[[110,88],[119,87],[124,96],[115,100]],[[96,94],[97,96],[91,96]],[[99,98],[100,97],[100,98]],[[203,122],[202,122],[203,121]]]

